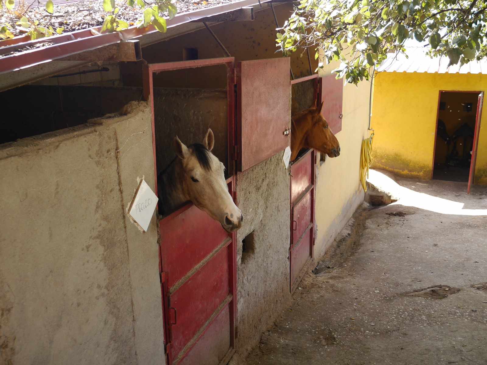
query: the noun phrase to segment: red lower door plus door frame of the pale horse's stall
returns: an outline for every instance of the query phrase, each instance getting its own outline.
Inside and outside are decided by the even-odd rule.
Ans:
[[[152,110],[157,191],[153,73],[225,65],[229,171],[235,171],[234,58],[146,64],[144,96]],[[235,175],[226,182],[235,201]],[[226,365],[235,352],[236,234],[192,203],[159,220],[164,347],[168,365]],[[162,344],[161,344],[162,345]]]

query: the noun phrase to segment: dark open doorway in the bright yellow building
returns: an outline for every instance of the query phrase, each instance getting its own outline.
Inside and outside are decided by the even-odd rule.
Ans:
[[[479,94],[440,92],[433,179],[468,182]]]

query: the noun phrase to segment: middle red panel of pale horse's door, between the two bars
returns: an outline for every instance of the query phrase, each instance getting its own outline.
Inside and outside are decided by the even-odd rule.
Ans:
[[[229,290],[228,246],[225,246],[180,288],[171,293],[170,311],[176,313],[176,324],[171,326],[175,356],[218,309],[228,296]]]

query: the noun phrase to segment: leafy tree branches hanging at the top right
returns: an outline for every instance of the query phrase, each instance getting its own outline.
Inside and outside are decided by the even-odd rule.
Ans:
[[[315,48],[319,67],[341,61],[337,78],[357,84],[389,53],[407,54],[408,39],[449,65],[484,58],[486,23],[485,0],[300,0],[276,42],[286,55]]]

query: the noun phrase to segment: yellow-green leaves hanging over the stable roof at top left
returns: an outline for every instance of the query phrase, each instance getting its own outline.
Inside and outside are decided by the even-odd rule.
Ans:
[[[103,3],[103,9],[106,16],[102,25],[102,33],[121,31],[129,27],[129,23],[120,19],[120,8],[115,5],[115,0],[100,0]],[[39,0],[32,0],[31,4],[26,9],[18,11],[15,10],[15,0],[0,0],[0,11],[8,12],[13,18],[16,18],[16,25],[24,29],[28,29],[27,35],[31,39],[42,37],[49,37],[55,34],[62,34],[64,27],[53,29],[52,26],[45,26],[42,24],[42,18],[32,18],[28,10],[31,6],[37,6]],[[141,11],[141,18],[136,25],[139,28],[144,28],[153,25],[158,31],[166,32],[166,18],[174,18],[177,13],[176,5],[172,0],[126,0],[125,3],[131,7],[137,7]],[[48,14],[54,13],[53,0],[47,0],[45,3],[45,10]],[[12,25],[9,23],[0,24],[0,39],[13,38],[11,32]]]

